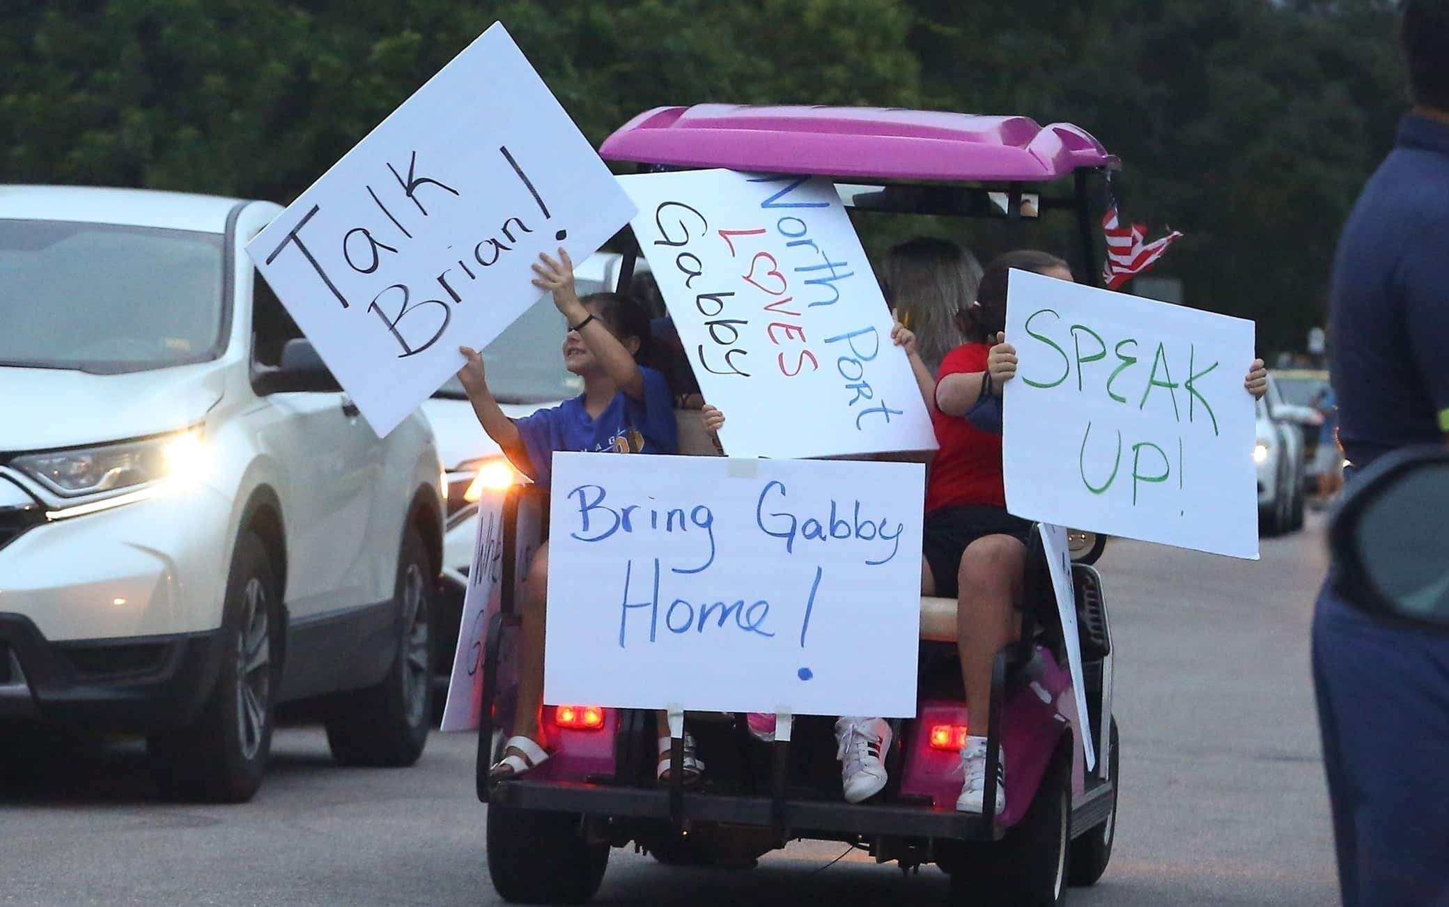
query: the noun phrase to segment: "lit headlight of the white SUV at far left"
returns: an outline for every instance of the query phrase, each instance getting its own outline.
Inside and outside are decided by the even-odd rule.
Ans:
[[[10,461],[35,481],[68,498],[103,496],[143,485],[194,485],[207,474],[200,429],[145,440],[28,454]]]

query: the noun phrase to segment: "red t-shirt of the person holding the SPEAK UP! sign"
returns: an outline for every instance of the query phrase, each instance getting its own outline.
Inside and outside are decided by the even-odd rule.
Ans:
[[[987,369],[987,343],[964,343],[946,354],[936,384],[946,375]],[[1006,509],[1001,481],[1001,436],[982,432],[961,416],[932,410],[936,459],[926,482],[926,513],[940,507],[990,506]]]

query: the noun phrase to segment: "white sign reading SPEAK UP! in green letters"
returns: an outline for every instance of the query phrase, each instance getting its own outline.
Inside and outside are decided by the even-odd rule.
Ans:
[[[1258,558],[1252,322],[1011,271],[1006,336],[1007,510]]]

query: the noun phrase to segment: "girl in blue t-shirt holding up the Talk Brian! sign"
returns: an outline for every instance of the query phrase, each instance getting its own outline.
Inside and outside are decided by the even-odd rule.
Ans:
[[[677,454],[678,429],[674,397],[664,369],[655,364],[649,316],[630,297],[593,293],[582,298],[574,290],[574,264],[564,249],[559,261],[539,256],[533,284],[554,294],[554,304],[568,323],[564,336],[564,367],[584,380],[584,393],[562,404],[513,420],[503,413],[488,390],[483,358],[461,346],[467,364],[458,372],[483,429],[509,461],[540,485],[548,485],[555,451],[613,454]],[[724,423],[719,410],[704,413],[706,427]],[[543,698],[543,614],[548,597],[548,542],[529,567],[520,595],[523,619],[519,643],[519,698],[513,736],[503,758],[490,769],[491,778],[522,775],[549,756],[539,722]],[[659,772],[668,771],[668,724],[659,717]],[[694,756],[685,735],[685,781],[696,781],[703,764]]]

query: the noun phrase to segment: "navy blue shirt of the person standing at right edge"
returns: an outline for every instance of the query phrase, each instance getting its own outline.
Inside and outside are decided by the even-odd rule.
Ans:
[[[1355,467],[1449,432],[1449,125],[1406,116],[1339,239],[1329,291],[1339,440]]]

